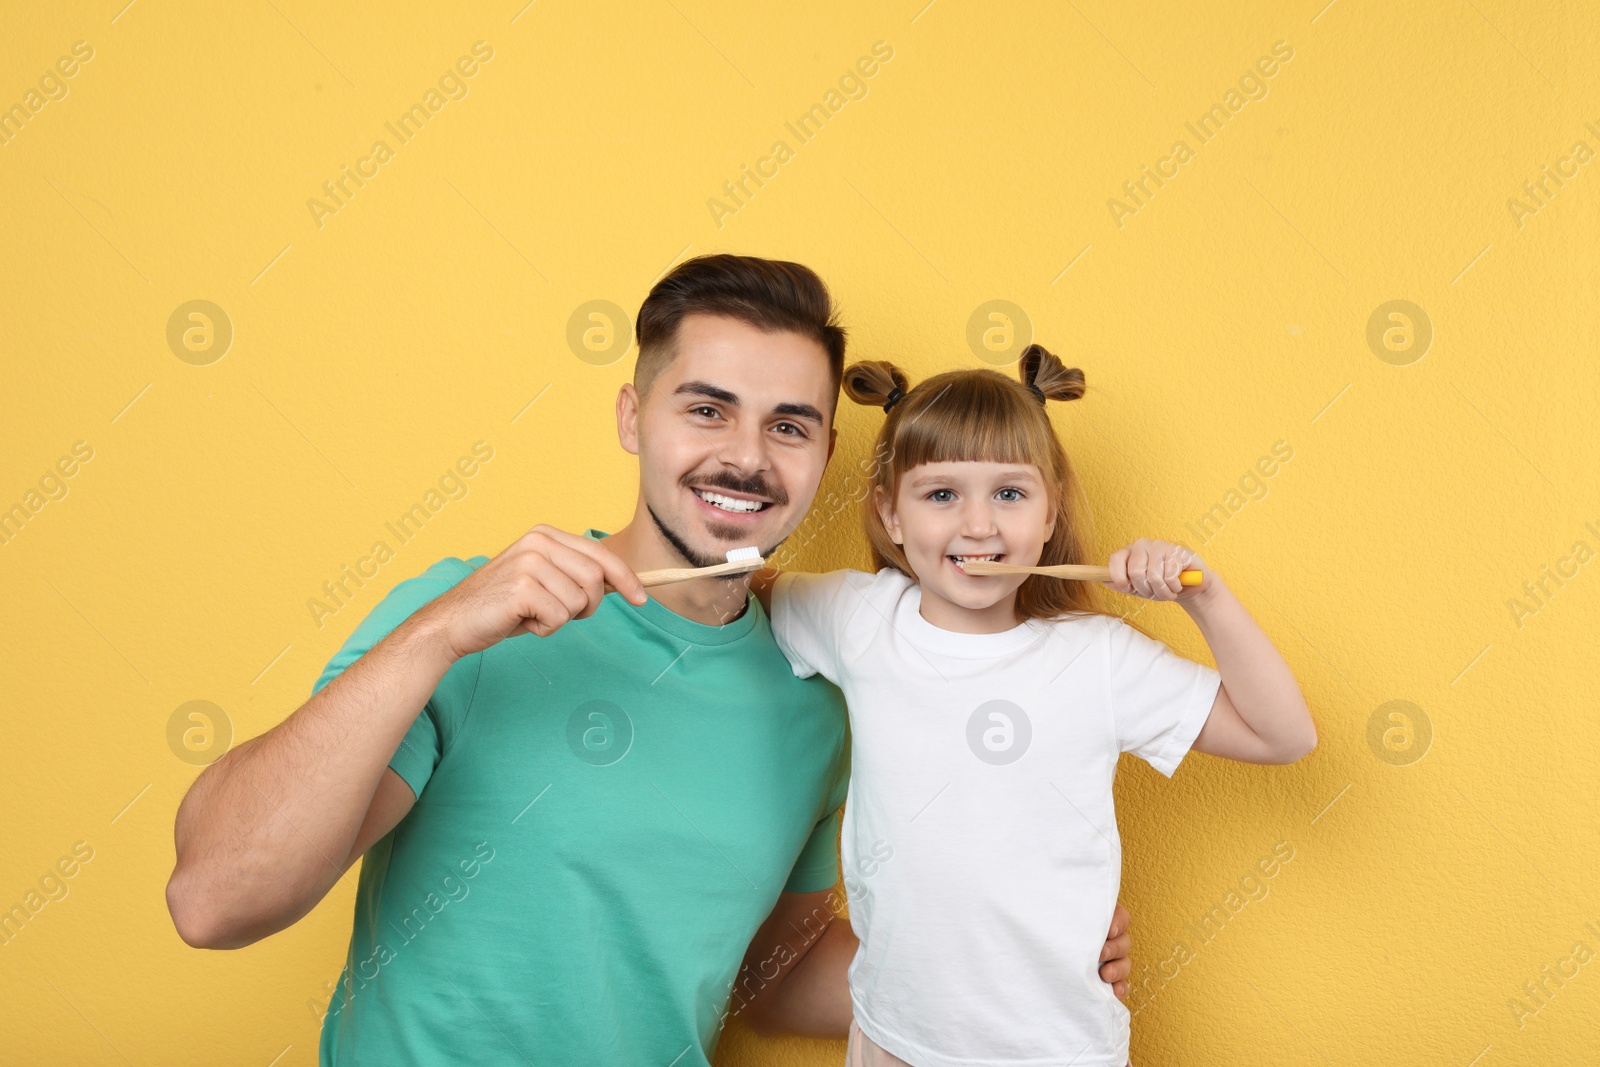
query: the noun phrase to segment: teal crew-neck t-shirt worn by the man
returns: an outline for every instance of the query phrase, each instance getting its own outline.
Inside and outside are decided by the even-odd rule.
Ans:
[[[395,585],[312,691],[486,561]],[[706,1067],[778,894],[838,878],[845,723],[754,597],[610,593],[458,661],[389,763],[416,805],[362,862],[320,1062]]]

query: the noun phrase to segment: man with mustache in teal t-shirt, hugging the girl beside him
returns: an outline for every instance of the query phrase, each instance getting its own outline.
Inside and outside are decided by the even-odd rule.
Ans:
[[[651,290],[638,346],[627,526],[400,582],[178,811],[166,899],[197,947],[283,929],[365,856],[323,1064],[704,1067],[733,1001],[760,1032],[848,1030],[842,697],[794,677],[749,576],[646,598],[635,574],[800,525],[845,334],[811,270],[706,256]]]

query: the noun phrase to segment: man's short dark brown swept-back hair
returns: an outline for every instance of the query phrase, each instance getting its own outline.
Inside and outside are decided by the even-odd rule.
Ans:
[[[638,362],[634,387],[640,397],[672,362],[685,315],[725,315],[765,333],[797,333],[822,346],[834,376],[832,395],[845,374],[845,328],[834,299],[810,267],[755,256],[696,256],[674,267],[638,307]]]

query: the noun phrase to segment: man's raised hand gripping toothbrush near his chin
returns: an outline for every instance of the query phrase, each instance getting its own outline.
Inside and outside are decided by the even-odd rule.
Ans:
[[[451,656],[462,659],[512,633],[549,637],[573,619],[587,619],[608,584],[635,605],[648,598],[616,552],[541,523],[416,617],[438,632]]]

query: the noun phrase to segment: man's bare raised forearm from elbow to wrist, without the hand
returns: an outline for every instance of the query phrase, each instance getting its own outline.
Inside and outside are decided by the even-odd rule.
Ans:
[[[349,867],[384,768],[448,669],[443,643],[413,617],[206,768],[178,809],[166,889],[186,941],[248,944],[326,894]]]

